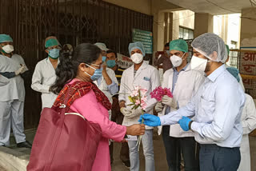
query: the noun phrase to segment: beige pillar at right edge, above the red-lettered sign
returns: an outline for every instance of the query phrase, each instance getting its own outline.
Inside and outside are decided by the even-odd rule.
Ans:
[[[241,47],[256,47],[256,21],[247,18],[256,18],[254,8],[242,9]],[[256,48],[252,50],[256,50]]]

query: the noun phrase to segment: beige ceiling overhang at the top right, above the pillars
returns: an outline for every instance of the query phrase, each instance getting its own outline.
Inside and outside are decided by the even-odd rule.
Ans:
[[[241,13],[243,8],[251,7],[250,0],[166,0],[196,13],[213,15]],[[254,0],[251,0],[254,1]]]

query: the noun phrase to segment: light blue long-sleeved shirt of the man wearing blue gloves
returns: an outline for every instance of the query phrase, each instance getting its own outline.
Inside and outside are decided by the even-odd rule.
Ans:
[[[245,101],[241,85],[222,65],[205,79],[186,106],[160,117],[160,120],[162,125],[170,125],[182,116],[194,117],[191,129],[198,143],[239,147]]]

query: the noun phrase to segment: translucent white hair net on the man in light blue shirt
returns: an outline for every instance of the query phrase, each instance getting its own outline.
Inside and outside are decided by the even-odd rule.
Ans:
[[[226,45],[216,34],[202,34],[194,39],[191,46],[213,62],[226,62]]]

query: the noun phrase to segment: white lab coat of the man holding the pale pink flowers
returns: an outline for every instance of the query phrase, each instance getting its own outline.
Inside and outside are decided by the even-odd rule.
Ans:
[[[160,76],[158,70],[154,66],[150,66],[146,62],[142,63],[142,66],[136,72],[134,77],[134,65],[126,69],[121,78],[121,85],[119,91],[119,101],[126,101],[126,107],[129,108],[131,104],[128,96],[130,96],[131,90],[135,86],[141,86],[147,89],[146,97],[148,101],[146,102],[146,113],[153,114],[154,105],[156,105],[157,100],[150,97],[150,93],[160,85]],[[138,119],[140,116],[133,119],[128,119],[124,117],[122,125],[130,126],[133,124],[138,124]],[[153,129],[150,126],[146,126],[146,129]]]

